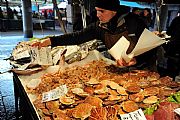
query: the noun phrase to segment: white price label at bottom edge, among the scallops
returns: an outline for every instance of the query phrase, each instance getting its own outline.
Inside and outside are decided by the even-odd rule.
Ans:
[[[121,120],[146,120],[146,117],[141,109],[128,114],[120,115]]]

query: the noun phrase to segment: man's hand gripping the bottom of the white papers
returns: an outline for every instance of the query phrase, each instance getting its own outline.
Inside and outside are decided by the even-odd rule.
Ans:
[[[131,66],[131,65],[136,64],[136,59],[133,58],[128,63],[124,59],[119,59],[116,62],[117,62],[117,65],[119,65],[119,66]]]

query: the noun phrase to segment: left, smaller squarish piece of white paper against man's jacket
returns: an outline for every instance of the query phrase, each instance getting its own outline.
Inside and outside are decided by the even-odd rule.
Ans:
[[[129,62],[133,58],[133,54],[127,55],[126,51],[130,45],[130,42],[122,36],[118,42],[108,52],[116,59],[123,58],[126,62]]]

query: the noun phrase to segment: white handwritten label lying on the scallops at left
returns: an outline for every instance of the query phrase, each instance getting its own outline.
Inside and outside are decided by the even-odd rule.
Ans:
[[[66,95],[68,92],[66,85],[61,85],[56,89],[50,90],[49,92],[45,92],[42,95],[42,102],[47,102],[55,99],[59,99],[60,96]]]

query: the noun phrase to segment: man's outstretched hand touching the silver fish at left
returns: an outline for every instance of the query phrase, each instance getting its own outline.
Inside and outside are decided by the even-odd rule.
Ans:
[[[39,48],[41,48],[41,47],[47,47],[47,46],[49,46],[49,45],[51,45],[51,40],[50,40],[50,38],[46,38],[46,39],[41,40],[41,41],[36,41],[36,42],[33,42],[33,43],[31,44],[32,47],[39,47]]]

